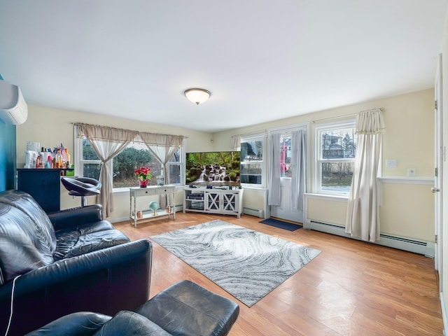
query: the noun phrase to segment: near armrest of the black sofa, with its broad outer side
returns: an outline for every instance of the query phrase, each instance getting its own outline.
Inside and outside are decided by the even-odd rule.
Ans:
[[[141,239],[23,274],[15,281],[10,335],[25,335],[76,311],[113,316],[139,307],[149,297],[151,260],[151,241]],[[0,321],[8,321],[12,282],[0,287]]]

